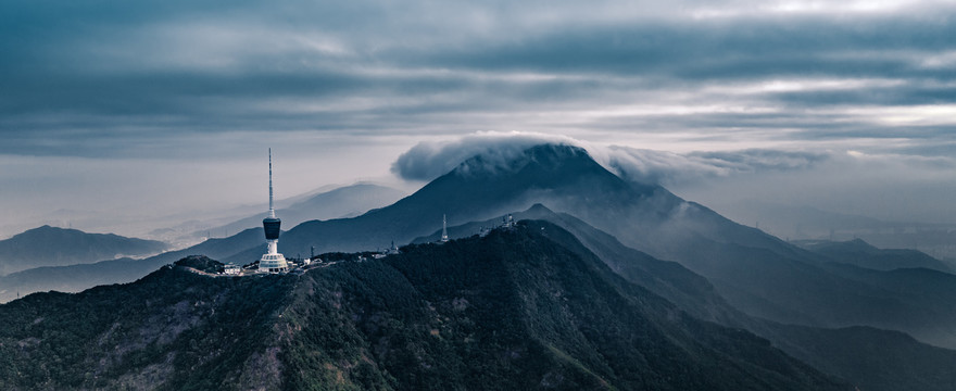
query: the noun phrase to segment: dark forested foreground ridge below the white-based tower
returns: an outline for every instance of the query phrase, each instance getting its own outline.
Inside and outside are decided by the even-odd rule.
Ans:
[[[34,294],[0,305],[0,388],[852,389],[549,239],[565,234],[538,224],[301,276],[164,267]]]

